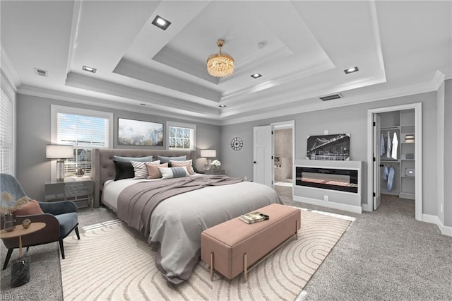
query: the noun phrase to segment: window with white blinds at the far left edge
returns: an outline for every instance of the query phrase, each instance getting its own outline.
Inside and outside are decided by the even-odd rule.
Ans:
[[[1,90],[0,172],[13,174],[13,101]]]

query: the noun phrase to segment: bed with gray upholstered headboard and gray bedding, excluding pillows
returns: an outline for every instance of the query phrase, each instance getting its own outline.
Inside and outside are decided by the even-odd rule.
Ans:
[[[157,252],[155,266],[169,283],[182,283],[191,275],[200,258],[203,230],[270,203],[281,203],[278,194],[270,187],[222,175],[195,174],[180,179],[113,181],[114,155],[185,155],[187,159],[196,162],[194,152],[121,149],[93,151],[95,206],[102,203],[112,209],[118,218],[147,238],[150,247]],[[199,183],[202,188],[196,186],[186,189]],[[163,201],[153,205],[151,211],[150,202],[143,195],[148,191],[152,194],[154,187],[170,187],[167,191],[182,189],[183,193],[163,198]]]

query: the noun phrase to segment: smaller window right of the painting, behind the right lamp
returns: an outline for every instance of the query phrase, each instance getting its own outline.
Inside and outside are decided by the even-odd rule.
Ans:
[[[191,150],[196,149],[196,125],[167,122],[168,149]]]

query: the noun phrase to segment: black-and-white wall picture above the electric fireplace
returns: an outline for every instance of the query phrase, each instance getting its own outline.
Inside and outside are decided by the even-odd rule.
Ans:
[[[350,160],[350,134],[309,136],[308,160]]]

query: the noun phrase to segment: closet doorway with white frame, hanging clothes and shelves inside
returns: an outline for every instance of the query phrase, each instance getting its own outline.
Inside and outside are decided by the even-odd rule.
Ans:
[[[368,120],[367,211],[392,195],[415,200],[422,220],[422,104],[369,110]]]

